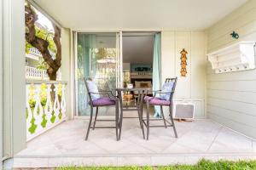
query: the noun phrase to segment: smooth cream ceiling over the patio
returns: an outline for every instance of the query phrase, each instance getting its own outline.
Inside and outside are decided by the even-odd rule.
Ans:
[[[74,30],[206,29],[247,0],[34,0]]]

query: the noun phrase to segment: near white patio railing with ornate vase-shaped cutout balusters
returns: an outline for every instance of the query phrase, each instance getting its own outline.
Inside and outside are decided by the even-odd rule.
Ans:
[[[63,81],[26,80],[26,140],[66,120],[66,86]]]

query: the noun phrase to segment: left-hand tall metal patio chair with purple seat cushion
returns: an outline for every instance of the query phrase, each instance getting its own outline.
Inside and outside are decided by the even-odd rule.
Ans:
[[[89,95],[89,104],[90,104],[90,122],[88,125],[87,133],[85,140],[88,139],[90,128],[93,130],[95,128],[115,128],[116,130],[116,139],[118,140],[118,130],[119,130],[119,99],[117,96],[112,94],[112,91],[105,90],[99,91],[96,82],[93,82],[91,78],[84,78],[85,87]],[[99,107],[103,106],[115,106],[115,119],[114,120],[97,120]],[[94,117],[93,126],[91,127],[92,117],[93,117],[93,108],[96,107],[96,115]],[[96,121],[115,121],[114,127],[96,127]]]

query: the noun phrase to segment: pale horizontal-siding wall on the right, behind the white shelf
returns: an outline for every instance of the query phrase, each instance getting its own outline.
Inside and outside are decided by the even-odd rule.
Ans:
[[[239,33],[238,40],[230,33]],[[256,1],[251,0],[208,30],[208,53],[238,41],[256,40]],[[256,71],[214,74],[207,67],[207,115],[256,139]]]

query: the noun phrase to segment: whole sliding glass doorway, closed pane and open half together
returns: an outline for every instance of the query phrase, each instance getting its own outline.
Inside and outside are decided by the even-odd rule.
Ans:
[[[84,77],[93,77],[98,88],[152,88],[154,31],[76,32],[75,82],[76,115],[88,116],[90,105]],[[111,107],[101,116],[113,115]]]

